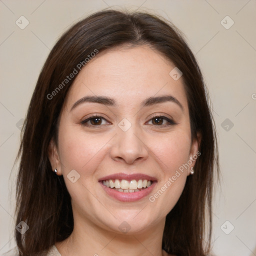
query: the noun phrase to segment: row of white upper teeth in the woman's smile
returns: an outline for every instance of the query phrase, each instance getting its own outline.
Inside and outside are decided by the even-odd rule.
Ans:
[[[121,188],[121,189],[138,189],[142,187],[148,187],[151,185],[151,181],[147,179],[139,179],[139,180],[126,180],[122,179],[107,179],[103,180],[103,185],[110,187],[110,188]]]

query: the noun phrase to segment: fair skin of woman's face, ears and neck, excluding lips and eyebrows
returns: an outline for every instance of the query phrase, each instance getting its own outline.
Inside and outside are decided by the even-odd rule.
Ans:
[[[199,139],[191,141],[182,77],[175,81],[169,75],[173,67],[146,45],[125,46],[99,52],[77,74],[60,113],[58,146],[53,140],[49,145],[52,169],[63,175],[74,218],[72,234],[55,244],[62,256],[167,255],[161,249],[165,217],[180,197],[195,161],[154,202],[148,197],[199,146]],[[71,110],[88,95],[111,97],[117,105],[84,102]],[[183,109],[172,101],[140,107],[145,98],[162,95],[172,95]],[[105,118],[101,124],[95,124],[95,119],[81,124],[94,113]],[[154,114],[176,124],[167,125],[166,120],[158,124]],[[118,127],[123,118],[131,123],[127,131]],[[80,175],[74,183],[67,178],[72,169]],[[122,202],[110,197],[98,182],[118,172],[148,174],[157,183],[148,196]],[[127,233],[118,228],[123,221],[130,226]]]

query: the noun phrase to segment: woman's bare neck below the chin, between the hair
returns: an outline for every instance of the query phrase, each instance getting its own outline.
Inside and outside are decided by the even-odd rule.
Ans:
[[[165,219],[143,231],[129,234],[107,230],[74,217],[71,235],[55,245],[61,256],[162,256],[165,255],[161,248],[164,223]]]

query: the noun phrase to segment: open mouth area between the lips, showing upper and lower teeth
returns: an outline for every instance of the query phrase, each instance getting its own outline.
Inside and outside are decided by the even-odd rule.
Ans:
[[[151,186],[153,181],[147,179],[106,179],[101,180],[104,186],[115,189],[119,192],[133,193],[146,189]]]

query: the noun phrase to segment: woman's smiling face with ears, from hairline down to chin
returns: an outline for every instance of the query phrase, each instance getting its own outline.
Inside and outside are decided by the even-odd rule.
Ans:
[[[77,74],[50,154],[76,223],[130,233],[164,225],[198,149],[174,67],[148,46],[122,47]]]

